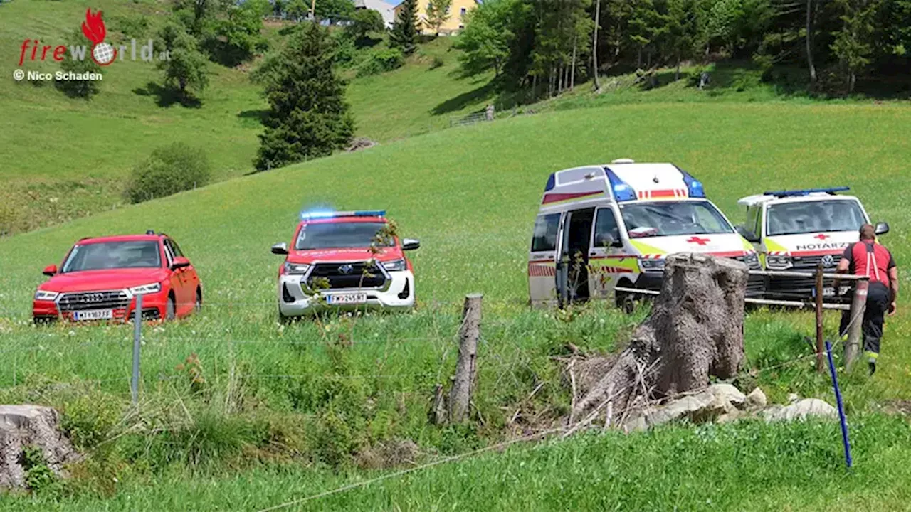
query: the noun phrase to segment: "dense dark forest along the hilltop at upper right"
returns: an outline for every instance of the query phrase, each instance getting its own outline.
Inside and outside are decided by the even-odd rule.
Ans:
[[[599,75],[750,59],[766,77],[800,68],[812,92],[907,77],[911,0],[486,0],[457,46],[467,74],[558,94]],[[595,70],[598,72],[596,73]]]

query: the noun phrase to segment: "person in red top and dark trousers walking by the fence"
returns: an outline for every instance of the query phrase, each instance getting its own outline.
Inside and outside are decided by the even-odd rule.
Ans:
[[[896,299],[898,298],[896,261],[889,250],[876,243],[875,228],[870,224],[864,224],[860,228],[860,241],[852,243],[844,250],[836,272],[865,275],[870,278],[862,331],[864,333],[864,352],[872,375],[876,371],[876,359],[879,357],[879,343],[883,337],[885,313],[893,315],[896,312]],[[837,285],[836,282],[835,286]],[[846,334],[850,322],[850,312],[843,312],[839,332],[843,335]]]

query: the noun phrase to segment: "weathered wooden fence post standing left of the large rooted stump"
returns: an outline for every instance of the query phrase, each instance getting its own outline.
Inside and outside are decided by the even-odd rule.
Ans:
[[[449,421],[458,423],[468,416],[471,393],[475,386],[475,359],[477,339],[481,335],[480,293],[465,297],[462,310],[462,327],[459,329],[458,363],[455,364],[455,380],[449,390]]]

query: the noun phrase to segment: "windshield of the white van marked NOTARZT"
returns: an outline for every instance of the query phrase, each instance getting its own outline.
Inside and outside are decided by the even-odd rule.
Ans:
[[[783,202],[766,211],[766,235],[855,231],[866,221],[856,200]]]

